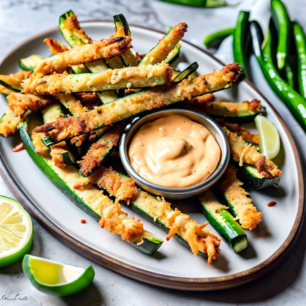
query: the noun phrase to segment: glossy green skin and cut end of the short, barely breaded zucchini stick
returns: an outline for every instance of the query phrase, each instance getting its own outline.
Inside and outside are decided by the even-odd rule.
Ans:
[[[213,194],[213,196],[215,195]],[[234,217],[228,210],[220,209],[218,211],[212,211],[205,205],[203,197],[198,196],[198,199],[200,209],[207,221],[236,254],[248,248],[248,238],[245,231],[236,220],[233,220]]]

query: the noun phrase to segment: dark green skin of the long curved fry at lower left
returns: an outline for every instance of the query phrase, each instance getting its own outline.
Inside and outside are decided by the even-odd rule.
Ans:
[[[20,137],[24,144],[24,147],[31,157],[33,162],[38,166],[38,168],[45,174],[50,181],[57,187],[61,192],[68,197],[77,207],[86,212],[91,218],[95,219],[95,221],[99,221],[101,216],[95,212],[91,207],[89,207],[69,186],[66,184],[62,178],[60,178],[55,171],[48,165],[48,163],[43,159],[42,156],[35,152],[35,148],[32,144],[31,138],[27,132],[26,125],[24,122],[20,126]],[[162,240],[158,240],[155,237],[152,237],[151,241],[143,238],[144,243],[141,245],[137,245],[134,241],[131,241],[130,244],[137,248],[138,250],[152,254],[162,245]]]

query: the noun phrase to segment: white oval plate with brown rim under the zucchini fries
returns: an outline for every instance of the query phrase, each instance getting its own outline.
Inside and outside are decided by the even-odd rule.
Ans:
[[[82,23],[85,31],[95,40],[106,38],[114,31],[112,22]],[[131,26],[134,50],[146,53],[163,36],[146,28]],[[31,54],[49,56],[43,39],[52,37],[63,41],[58,28],[39,33],[22,42],[2,60],[0,73],[14,73],[19,69],[22,57]],[[187,63],[197,61],[200,74],[221,69],[222,64],[203,50],[182,42],[181,60]],[[119,273],[140,281],[164,287],[186,290],[211,290],[232,287],[249,282],[270,271],[289,252],[300,228],[303,214],[303,177],[300,159],[293,139],[266,99],[246,81],[234,84],[232,88],[216,93],[217,98],[241,102],[260,99],[267,117],[274,122],[280,132],[281,152],[275,159],[283,172],[278,188],[251,190],[257,209],[263,213],[263,221],[256,230],[247,232],[249,247],[241,255],[236,255],[223,241],[221,253],[210,265],[201,256],[193,256],[176,240],[165,241],[152,256],[137,251],[116,234],[102,230],[97,222],[74,206],[64,194],[50,183],[35,166],[26,151],[13,153],[12,147],[18,135],[0,140],[1,171],[15,195],[43,226],[58,239],[65,242],[84,256]],[[7,108],[6,98],[0,97],[0,114]],[[274,207],[267,203],[276,201]],[[174,203],[174,201],[172,201]],[[194,200],[187,199],[175,206],[190,214],[199,223],[205,222]],[[129,208],[124,210],[134,214]],[[86,223],[81,224],[80,220]],[[146,220],[144,227],[165,238],[165,233]]]

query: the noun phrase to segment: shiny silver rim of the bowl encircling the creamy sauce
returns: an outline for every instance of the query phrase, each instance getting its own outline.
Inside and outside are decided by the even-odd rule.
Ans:
[[[130,137],[133,134],[132,132],[139,128],[141,125],[143,125],[145,122],[148,121],[152,121],[155,118],[159,117],[159,114],[164,115],[164,114],[170,114],[170,113],[174,113],[174,112],[179,112],[179,113],[184,113],[187,117],[190,114],[193,115],[197,115],[198,117],[200,117],[201,119],[204,119],[205,121],[209,122],[209,124],[213,127],[213,129],[215,129],[215,131],[212,131],[211,129],[209,129],[207,127],[207,129],[209,129],[209,131],[211,132],[211,134],[214,136],[215,132],[220,136],[221,138],[221,143],[222,143],[222,147],[220,146],[221,149],[221,161],[219,162],[216,170],[214,171],[213,174],[211,174],[210,177],[208,177],[206,180],[204,180],[203,182],[193,185],[193,186],[189,186],[189,187],[185,187],[185,188],[174,188],[174,187],[164,187],[161,185],[157,185],[154,184],[150,181],[145,180],[143,177],[141,177],[131,166],[130,162],[129,162],[129,158],[128,158],[128,144],[130,141]],[[188,117],[189,118],[189,117]],[[203,124],[203,123],[200,123]],[[205,126],[205,124],[204,124]],[[215,136],[214,136],[215,138]],[[128,174],[133,177],[136,181],[136,183],[138,183],[140,185],[140,187],[143,187],[144,189],[148,189],[150,192],[151,190],[155,190],[156,192],[159,192],[160,195],[184,195],[184,194],[190,194],[190,196],[194,196],[196,194],[199,194],[200,191],[202,191],[203,189],[210,188],[212,185],[215,184],[215,182],[221,177],[221,175],[224,173],[226,166],[229,162],[230,159],[230,149],[229,149],[229,144],[228,144],[228,140],[226,137],[226,134],[224,132],[224,130],[222,129],[222,127],[211,117],[207,116],[205,113],[203,113],[200,110],[196,110],[192,107],[188,107],[188,106],[181,106],[180,108],[176,107],[176,108],[163,108],[163,109],[156,109],[156,110],[150,110],[149,113],[144,113],[144,114],[140,114],[137,115],[131,123],[129,123],[126,128],[124,129],[124,132],[122,133],[121,136],[121,140],[120,140],[120,144],[119,144],[119,152],[120,152],[120,158],[121,158],[121,162],[125,168],[125,170],[128,172]],[[147,188],[146,188],[147,187]]]

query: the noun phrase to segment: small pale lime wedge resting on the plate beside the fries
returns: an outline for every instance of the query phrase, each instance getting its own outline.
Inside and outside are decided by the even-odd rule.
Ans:
[[[275,125],[266,117],[257,115],[255,124],[259,136],[259,151],[266,155],[267,159],[272,159],[278,155],[280,148],[280,138]]]

